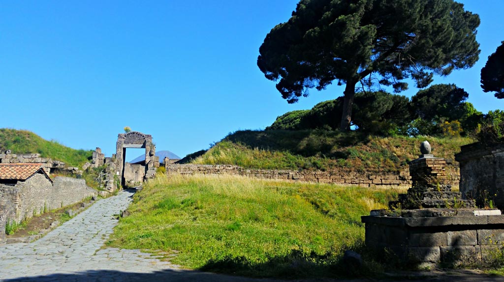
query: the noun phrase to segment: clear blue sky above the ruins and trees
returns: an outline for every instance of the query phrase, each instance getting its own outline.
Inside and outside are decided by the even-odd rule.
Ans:
[[[502,109],[480,70],[504,40],[504,1],[463,1],[479,14],[478,63],[455,83],[484,113]],[[288,111],[341,96],[336,85],[289,105],[257,67],[266,34],[296,0],[3,1],[0,127],[115,153],[124,126],[183,157],[229,132],[264,129]],[[410,85],[404,95],[418,91]],[[138,153],[129,154],[127,159]]]

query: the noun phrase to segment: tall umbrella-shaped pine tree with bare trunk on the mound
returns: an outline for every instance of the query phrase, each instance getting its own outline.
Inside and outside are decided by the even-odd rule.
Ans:
[[[346,84],[340,130],[348,130],[356,86],[419,88],[478,60],[479,16],[453,0],[301,0],[261,45],[258,66],[288,103]]]

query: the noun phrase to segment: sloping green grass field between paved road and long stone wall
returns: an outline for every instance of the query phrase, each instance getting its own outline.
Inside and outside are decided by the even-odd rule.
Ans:
[[[107,244],[176,250],[172,262],[190,269],[345,276],[342,253],[362,251],[360,216],[396,197],[395,190],[229,175],[158,177],[135,194],[131,216],[119,220]]]

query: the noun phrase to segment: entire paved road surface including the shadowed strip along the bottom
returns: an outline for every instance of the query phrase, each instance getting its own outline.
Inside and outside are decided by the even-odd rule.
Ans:
[[[101,249],[115,217],[133,193],[97,201],[86,211],[32,243],[0,246],[1,281],[274,281],[178,269],[139,250]],[[431,281],[503,281],[501,277],[435,275]],[[326,280],[330,281],[330,280]],[[362,280],[353,280],[362,281]],[[397,281],[397,279],[396,279]],[[408,280],[412,281],[412,280]]]

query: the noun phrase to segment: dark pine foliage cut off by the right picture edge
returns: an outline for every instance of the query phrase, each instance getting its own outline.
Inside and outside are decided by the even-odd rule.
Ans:
[[[498,99],[504,98],[504,41],[501,43],[481,69],[481,88],[484,92],[495,92]]]

